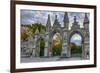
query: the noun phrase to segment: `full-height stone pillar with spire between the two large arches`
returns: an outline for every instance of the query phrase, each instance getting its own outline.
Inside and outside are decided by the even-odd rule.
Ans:
[[[69,53],[69,46],[68,46],[68,30],[69,30],[69,17],[68,17],[68,13],[65,12],[64,14],[64,29],[63,29],[63,36],[62,36],[62,52],[61,52],[61,56],[62,57],[69,57],[70,53]]]

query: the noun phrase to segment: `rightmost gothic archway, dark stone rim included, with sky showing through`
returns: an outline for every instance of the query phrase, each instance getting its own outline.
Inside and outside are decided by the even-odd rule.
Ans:
[[[69,49],[71,57],[82,57],[84,50],[84,37],[80,31],[72,31],[69,35]]]

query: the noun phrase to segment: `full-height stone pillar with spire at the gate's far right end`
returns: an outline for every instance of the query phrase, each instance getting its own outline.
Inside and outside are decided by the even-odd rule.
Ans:
[[[84,38],[84,59],[89,59],[90,54],[89,54],[89,41],[90,41],[90,37],[89,37],[89,18],[87,16],[87,13],[85,13],[85,17],[84,17],[84,22],[83,22],[83,26],[84,26],[84,33],[85,33],[85,38]]]

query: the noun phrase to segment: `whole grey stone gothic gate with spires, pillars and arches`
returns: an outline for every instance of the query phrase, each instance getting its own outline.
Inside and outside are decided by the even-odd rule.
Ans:
[[[63,24],[64,27],[61,27],[57,19],[57,15],[55,15],[55,20],[53,26],[51,26],[50,15],[48,15],[47,24],[46,24],[46,32],[42,30],[41,32],[38,29],[35,31],[34,37],[34,57],[39,57],[40,45],[38,43],[40,38],[43,38],[45,41],[44,46],[44,57],[52,57],[52,39],[55,33],[60,33],[61,35],[61,55],[60,57],[71,57],[71,48],[70,48],[70,39],[72,35],[75,33],[79,34],[82,37],[82,58],[87,58],[87,53],[89,53],[89,19],[87,14],[84,14],[83,20],[83,28],[80,28],[80,24],[78,23],[76,16],[73,17],[74,22],[72,23],[71,28],[69,29],[69,16],[68,13],[65,12]]]

